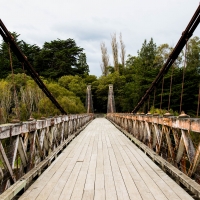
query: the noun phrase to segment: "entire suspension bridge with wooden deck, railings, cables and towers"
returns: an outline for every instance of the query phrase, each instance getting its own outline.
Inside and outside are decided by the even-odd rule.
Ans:
[[[94,114],[91,85],[87,113],[67,114],[0,21],[4,41],[62,114],[0,125],[0,199],[200,199],[200,94],[197,118],[141,112],[199,22],[200,6],[132,113],[116,113],[108,86],[104,118]]]

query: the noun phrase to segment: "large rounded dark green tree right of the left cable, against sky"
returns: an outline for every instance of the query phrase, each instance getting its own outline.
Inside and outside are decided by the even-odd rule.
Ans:
[[[45,42],[36,60],[36,71],[45,78],[58,79],[63,75],[88,74],[83,48],[73,39]]]

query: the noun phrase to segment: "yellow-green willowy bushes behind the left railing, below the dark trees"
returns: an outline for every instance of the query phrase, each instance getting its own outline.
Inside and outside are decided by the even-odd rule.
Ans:
[[[80,98],[72,91],[56,82],[43,81],[66,112],[85,112]],[[0,81],[0,105],[1,123],[14,118],[27,120],[30,116],[40,118],[60,114],[31,77],[24,74],[9,75]]]

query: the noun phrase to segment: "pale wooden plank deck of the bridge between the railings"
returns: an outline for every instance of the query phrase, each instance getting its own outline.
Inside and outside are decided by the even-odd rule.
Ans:
[[[109,121],[98,118],[19,199],[193,198]]]

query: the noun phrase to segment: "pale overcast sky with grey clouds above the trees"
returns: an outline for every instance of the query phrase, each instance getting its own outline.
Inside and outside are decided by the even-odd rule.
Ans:
[[[90,74],[101,75],[100,43],[111,53],[111,35],[120,32],[126,55],[137,55],[145,39],[175,46],[200,0],[1,0],[0,18],[20,39],[40,47],[73,38],[84,48]],[[200,25],[195,36],[200,37]],[[119,43],[119,40],[118,40]]]

